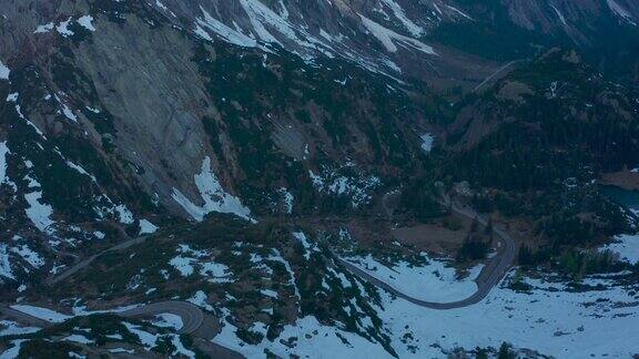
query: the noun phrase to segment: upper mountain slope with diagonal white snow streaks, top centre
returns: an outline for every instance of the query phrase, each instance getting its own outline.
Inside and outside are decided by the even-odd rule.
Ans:
[[[402,54],[422,61],[436,57],[424,42],[440,21],[456,21],[463,12],[440,0],[378,0],[298,2],[282,0],[194,1],[166,0],[156,10],[173,18],[205,40],[222,40],[240,47],[267,49],[277,45],[307,60],[320,55],[343,57],[359,65],[397,75]],[[398,48],[400,51],[398,51]]]

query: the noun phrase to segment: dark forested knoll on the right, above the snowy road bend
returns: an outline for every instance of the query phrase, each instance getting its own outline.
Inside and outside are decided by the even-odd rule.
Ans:
[[[439,160],[445,176],[480,188],[471,198],[479,212],[531,223],[538,248],[523,248],[521,264],[574,276],[615,270],[608,255],[576,248],[632,230],[636,216],[592,183],[639,163],[638,114],[636,92],[554,50],[459,104],[452,151]]]

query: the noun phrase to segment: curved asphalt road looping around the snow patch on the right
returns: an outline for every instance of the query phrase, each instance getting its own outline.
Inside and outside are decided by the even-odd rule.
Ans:
[[[487,226],[488,222],[477,215],[474,211],[465,207],[460,207],[458,205],[453,204],[450,209],[462,216],[468,217],[470,219],[477,218],[480,225]],[[494,233],[498,239],[498,247],[497,247],[497,255],[490,258],[486,266],[479,273],[475,283],[477,284],[477,291],[473,294],[470,297],[450,301],[450,302],[435,302],[435,301],[427,301],[417,299],[415,297],[410,297],[390,286],[389,284],[382,281],[368,273],[357,268],[355,265],[335,256],[337,260],[353,275],[358,276],[359,278],[382,288],[385,289],[398,298],[408,300],[415,305],[420,307],[437,309],[437,310],[447,310],[447,309],[456,309],[468,307],[481,301],[486,296],[490,293],[490,290],[499,284],[499,281],[504,278],[506,273],[510,269],[513,264],[515,263],[515,257],[517,253],[517,246],[515,245],[515,240],[503,229],[497,228],[495,225],[493,226]]]

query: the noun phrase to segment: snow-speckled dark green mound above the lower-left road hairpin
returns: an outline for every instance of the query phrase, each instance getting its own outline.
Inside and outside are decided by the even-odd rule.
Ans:
[[[336,266],[317,238],[308,238],[315,249],[305,249],[291,230],[275,219],[252,225],[211,214],[201,224],[174,226],[141,245],[105,254],[34,295],[57,300],[82,296],[85,304],[109,306],[121,298],[186,300],[201,291],[214,304],[215,316],[237,327],[237,336],[248,343],[274,340],[284,326],[313,316],[324,325],[339,324],[346,331],[378,341],[394,353],[374,307],[381,305],[376,289]],[[337,240],[337,234],[324,235],[326,242]],[[180,263],[192,267],[192,273],[181,273]],[[227,269],[224,275],[212,274],[205,269],[207,264]],[[149,293],[150,288],[154,290]],[[267,326],[266,336],[252,330],[255,321]]]

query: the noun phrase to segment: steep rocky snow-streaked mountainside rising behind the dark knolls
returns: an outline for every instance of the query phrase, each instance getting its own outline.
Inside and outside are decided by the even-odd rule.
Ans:
[[[621,0],[0,9],[2,236],[58,253],[149,219],[357,208],[423,171],[420,136],[459,89],[539,47],[613,48],[601,37],[637,19]]]

